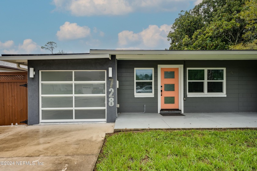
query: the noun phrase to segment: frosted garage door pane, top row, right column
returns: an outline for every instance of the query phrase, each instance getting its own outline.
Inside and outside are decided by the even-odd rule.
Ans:
[[[105,81],[105,71],[74,71],[74,81]]]

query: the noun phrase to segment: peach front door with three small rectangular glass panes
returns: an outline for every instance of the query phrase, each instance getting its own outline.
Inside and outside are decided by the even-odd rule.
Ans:
[[[178,68],[161,68],[161,109],[179,108]]]

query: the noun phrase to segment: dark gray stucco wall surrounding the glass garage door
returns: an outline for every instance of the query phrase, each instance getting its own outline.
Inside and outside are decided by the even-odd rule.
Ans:
[[[28,77],[28,125],[39,123],[39,70],[106,70],[107,82],[107,116],[106,122],[115,122],[116,119],[116,59],[112,56],[111,60],[104,59],[67,59],[67,60],[28,60],[28,68],[34,68],[34,78]],[[108,68],[112,67],[112,78],[114,79],[114,106],[108,105],[110,94],[109,88],[111,81],[109,80]],[[29,71],[28,71],[29,75]]]

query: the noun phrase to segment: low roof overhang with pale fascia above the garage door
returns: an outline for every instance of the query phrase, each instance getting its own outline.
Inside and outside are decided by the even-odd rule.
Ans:
[[[28,64],[28,60],[51,60],[51,59],[92,59],[92,58],[109,58],[109,54],[79,54],[79,55],[10,55],[0,56],[0,60],[9,60],[17,63]]]

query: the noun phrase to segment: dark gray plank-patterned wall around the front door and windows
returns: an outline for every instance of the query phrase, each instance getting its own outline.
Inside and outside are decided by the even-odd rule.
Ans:
[[[257,61],[256,60],[118,60],[117,103],[118,113],[158,112],[158,65],[183,64],[188,67],[225,67],[226,97],[187,97],[184,73],[184,112],[256,112],[257,111]],[[134,97],[134,68],[154,68],[154,97]],[[233,72],[233,74],[231,74]]]

